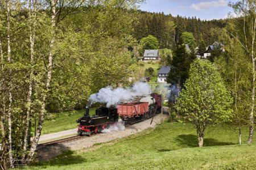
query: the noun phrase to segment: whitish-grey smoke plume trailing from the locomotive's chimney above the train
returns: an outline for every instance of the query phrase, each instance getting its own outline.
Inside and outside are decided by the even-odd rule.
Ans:
[[[97,94],[90,95],[87,107],[93,103],[106,103],[106,107],[117,105],[121,100],[133,99],[135,96],[149,95],[150,86],[147,83],[137,82],[131,88],[101,88]]]

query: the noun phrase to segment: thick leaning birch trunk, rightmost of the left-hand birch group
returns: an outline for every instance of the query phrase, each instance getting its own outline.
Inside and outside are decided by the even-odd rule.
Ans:
[[[47,92],[49,90],[49,86],[51,83],[51,78],[52,78],[52,61],[53,61],[53,47],[55,44],[55,18],[56,18],[56,0],[51,0],[50,1],[51,5],[51,26],[52,26],[52,31],[51,31],[51,41],[49,44],[49,56],[48,56],[48,66],[47,66],[47,79],[46,79],[46,92],[43,95],[43,101],[42,101],[42,106],[41,106],[41,111],[40,111],[40,116],[39,116],[39,122],[38,122],[38,128],[36,130],[36,135],[33,139],[32,146],[30,149],[30,154],[28,155],[29,159],[32,159],[36,146],[38,145],[38,141],[41,135],[42,131],[42,126],[44,122],[44,114],[46,112],[46,100],[47,100]]]

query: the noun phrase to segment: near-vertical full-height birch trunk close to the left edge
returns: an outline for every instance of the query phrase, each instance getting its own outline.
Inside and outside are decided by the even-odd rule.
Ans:
[[[9,63],[11,63],[11,39],[10,39],[10,1],[6,2],[6,9],[7,9],[7,61]],[[9,71],[11,76],[11,70]],[[9,134],[8,134],[8,140],[9,140],[9,161],[10,161],[10,167],[14,168],[13,165],[13,141],[11,138],[11,133],[12,133],[12,129],[11,129],[11,116],[12,116],[12,104],[13,104],[13,94],[11,92],[11,88],[12,87],[12,83],[11,83],[11,79],[9,80],[9,87],[8,87],[8,94],[9,94],[9,108],[8,108],[8,130],[9,130]]]

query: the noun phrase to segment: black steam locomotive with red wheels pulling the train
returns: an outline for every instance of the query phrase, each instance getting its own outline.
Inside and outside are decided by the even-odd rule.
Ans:
[[[109,125],[118,122],[117,109],[114,107],[110,108],[98,108],[93,116],[89,115],[89,108],[86,108],[84,116],[76,121],[79,123],[77,133],[79,135],[91,135],[98,133]]]

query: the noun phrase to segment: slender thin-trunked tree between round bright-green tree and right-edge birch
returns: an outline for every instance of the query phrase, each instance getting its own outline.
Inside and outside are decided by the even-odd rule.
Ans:
[[[227,90],[233,97],[233,124],[239,128],[239,143],[241,145],[242,126],[248,125],[250,112],[250,59],[244,58],[245,52],[236,39],[229,39],[225,45],[225,54],[214,61],[222,75]]]

